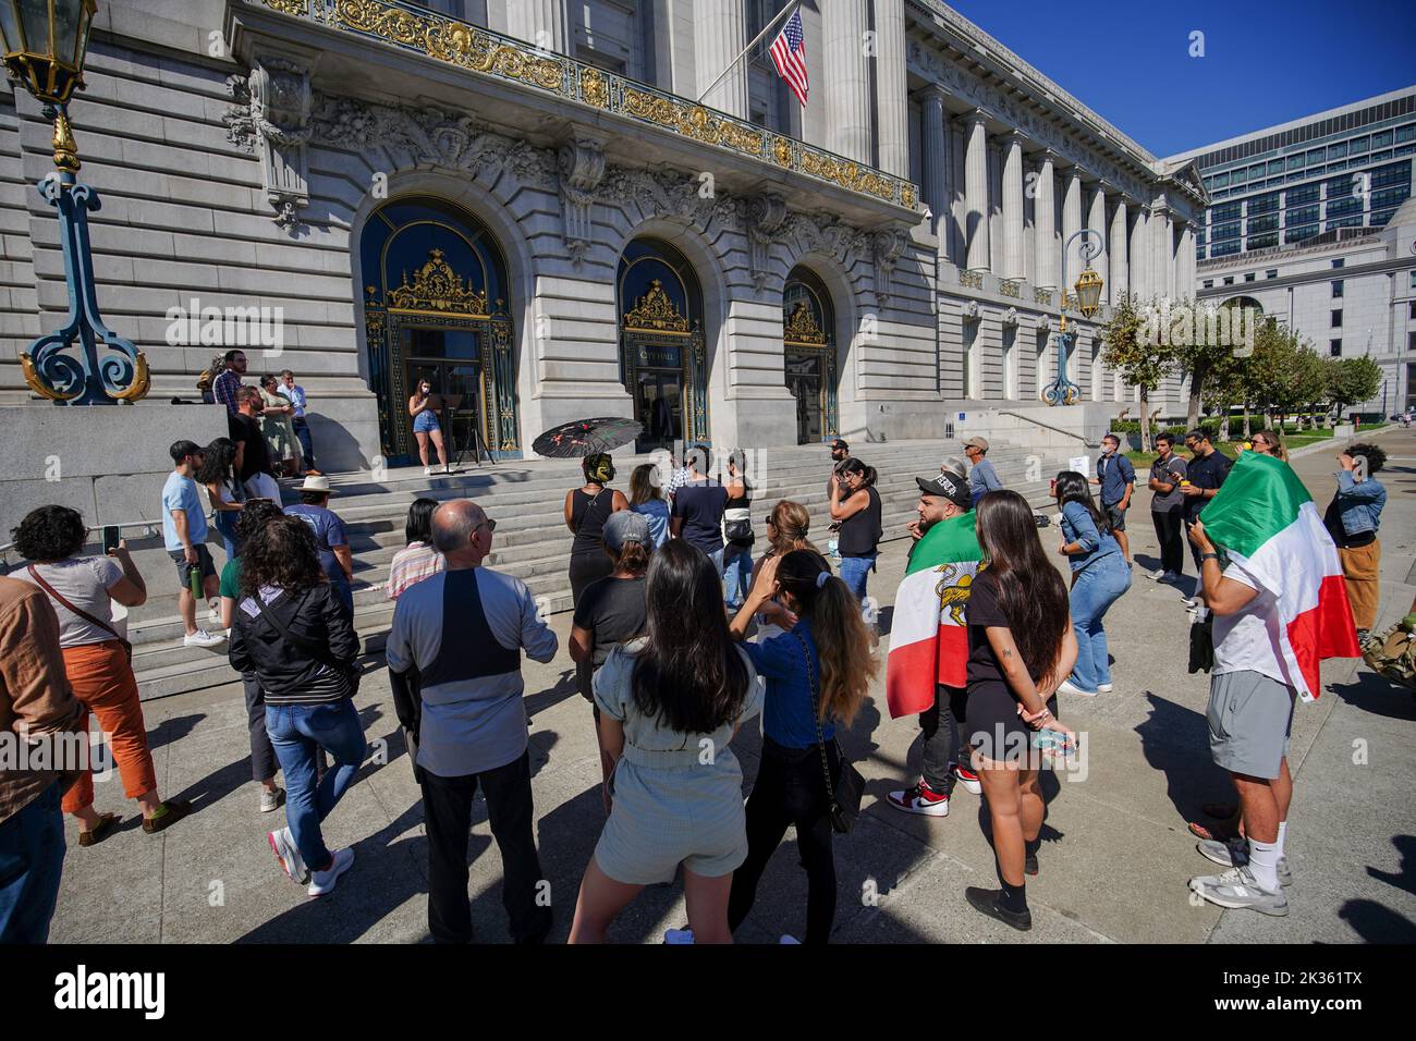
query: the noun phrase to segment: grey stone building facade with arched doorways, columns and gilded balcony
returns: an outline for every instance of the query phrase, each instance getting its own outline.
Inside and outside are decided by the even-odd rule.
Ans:
[[[715,82],[780,6],[103,3],[71,116],[139,406],[195,399],[244,346],[252,374],[296,371],[330,469],[406,460],[422,378],[500,457],[586,415],[760,448],[1120,411],[1089,323],[1072,378],[1106,408],[1038,399],[1062,242],[1103,232],[1106,299],[1192,286],[1194,169],[935,0],[803,3],[804,109],[766,44]],[[4,404],[68,306],[48,137],[0,96]]]

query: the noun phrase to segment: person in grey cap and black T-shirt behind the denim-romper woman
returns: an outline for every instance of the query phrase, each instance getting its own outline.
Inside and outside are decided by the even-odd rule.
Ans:
[[[602,531],[605,552],[615,562],[615,571],[581,596],[571,625],[571,660],[576,667],[576,683],[581,695],[595,708],[595,736],[600,738],[600,710],[595,704],[590,687],[595,670],[605,664],[610,652],[622,643],[629,643],[644,635],[644,575],[649,571],[649,555],[653,535],[649,520],[633,510],[612,513]],[[600,780],[609,782],[615,761],[600,745]],[[609,816],[610,800],[607,785],[602,789],[605,813]]]

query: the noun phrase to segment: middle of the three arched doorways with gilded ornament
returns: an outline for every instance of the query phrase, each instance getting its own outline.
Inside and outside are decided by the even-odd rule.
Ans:
[[[620,255],[616,280],[620,378],[644,432],[637,452],[708,442],[708,372],[702,289],[667,242],[639,238]]]

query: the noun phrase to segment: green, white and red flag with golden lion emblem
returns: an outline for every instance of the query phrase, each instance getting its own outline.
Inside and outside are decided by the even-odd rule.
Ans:
[[[923,712],[935,687],[967,681],[969,586],[983,561],[974,514],[937,521],[915,544],[909,569],[895,593],[885,701],[891,718]]]

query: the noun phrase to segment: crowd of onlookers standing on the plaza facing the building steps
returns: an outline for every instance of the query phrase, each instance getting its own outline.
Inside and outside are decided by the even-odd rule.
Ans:
[[[323,823],[368,753],[354,705],[364,670],[353,557],[324,476],[307,473],[299,503],[282,507],[269,463],[278,453],[256,431],[266,409],[279,408],[265,395],[279,391],[239,385],[245,365],[234,354],[214,381],[215,398],[234,409],[232,436],[205,449],[187,440],[171,446],[163,537],[177,569],[184,642],[229,639],[259,810],[283,804],[286,812],[285,826],[266,836],[270,854],[283,875],[321,897],[354,863],[353,848],[327,846]],[[295,443],[304,443],[297,432]],[[1211,752],[1238,795],[1235,807],[1212,807],[1216,824],[1192,824],[1201,854],[1229,870],[1189,887],[1222,906],[1283,915],[1291,878],[1287,732],[1294,700],[1317,690],[1286,643],[1264,636],[1290,619],[1291,603],[1267,576],[1262,547],[1233,534],[1231,516],[1240,507],[1231,504],[1257,496],[1289,503],[1300,518],[1317,514],[1300,508],[1306,491],[1279,432],[1260,431],[1242,446],[1253,460],[1229,459],[1204,431],[1184,443],[1188,459],[1163,435],[1150,470],[1161,554],[1151,578],[1181,584],[1178,540],[1185,538],[1198,582],[1182,596],[1194,623],[1212,630]],[[811,541],[807,506],[780,500],[766,516],[756,558],[743,452],[729,453],[718,473],[709,473],[702,445],[688,448],[681,467],[637,466],[629,496],[613,487],[609,455],[582,460],[583,484],[564,504],[573,537],[568,654],[590,705],[605,824],[569,942],[603,940],[646,887],[675,878],[688,922],[666,940],[731,942],[792,827],[807,877],[801,936],[826,943],[835,919],[834,836],[850,830],[861,797],[840,735],[882,666],[891,714],[918,714],[922,729],[920,776],[891,790],[885,804],[943,817],[956,786],[981,796],[998,887],[969,887],[964,895],[983,915],[1031,928],[1027,880],[1039,872],[1046,814],[1039,772],[1065,762],[1079,741],[1058,719],[1059,695],[1114,691],[1104,619],[1131,586],[1124,521],[1136,473],[1109,436],[1095,479],[1075,470],[1052,479],[1056,554],[1066,561],[1059,568],[1039,531],[1046,518],[1003,487],[986,459],[988,443],[973,438],[964,450],[967,462],[950,456],[937,474],[916,477],[918,518],[899,533],[909,535],[909,562],[888,659],[867,596],[886,537],[882,503],[875,470],[845,442],[831,443],[827,545]],[[252,460],[256,469],[248,472]],[[1355,654],[1378,606],[1386,491],[1376,473],[1385,453],[1349,445],[1338,462],[1334,497],[1304,533],[1310,557],[1286,561],[1328,567],[1345,581],[1351,606],[1341,605],[1349,613],[1338,627],[1351,630],[1348,639],[1313,647],[1313,660]],[[219,574],[198,487],[225,545]],[[1216,499],[1228,511],[1209,508]],[[496,528],[472,500],[415,500],[406,545],[385,585],[395,602],[385,660],[421,789],[428,928],[438,942],[473,939],[466,837],[479,790],[501,851],[513,940],[537,943],[552,929],[534,834],[521,661],[523,654],[551,661],[559,640],[527,585],[487,567]],[[112,603],[137,606],[149,596],[126,542],[85,557],[84,520],[61,506],[33,511],[13,534],[27,564],[0,578],[0,727],[40,739],[84,732],[95,715],[143,830],[170,827],[191,806],[157,790],[132,647],[112,616]],[[197,626],[200,601],[214,632]],[[733,752],[745,725],[762,734],[746,800]],[[0,858],[21,868],[0,881],[0,939],[47,935],[64,857],[62,813],[76,819],[84,847],[118,823],[93,810],[85,769],[7,770],[0,779]]]

